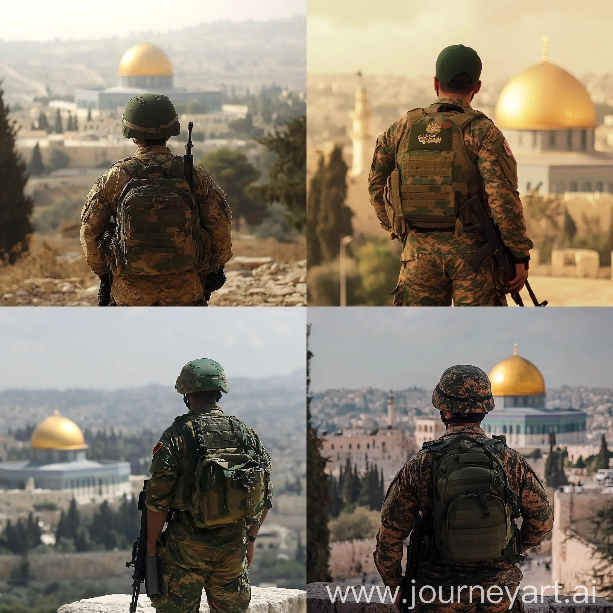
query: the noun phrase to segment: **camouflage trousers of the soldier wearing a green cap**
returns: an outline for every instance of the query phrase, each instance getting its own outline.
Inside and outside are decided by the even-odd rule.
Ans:
[[[492,265],[486,262],[474,272],[470,258],[419,253],[403,261],[394,307],[506,307]]]

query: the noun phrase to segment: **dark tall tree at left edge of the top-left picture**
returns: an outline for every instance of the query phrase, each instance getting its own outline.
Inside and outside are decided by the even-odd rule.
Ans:
[[[32,200],[24,193],[26,164],[15,147],[17,126],[9,120],[9,107],[0,89],[0,256],[10,263],[27,251],[32,234]]]

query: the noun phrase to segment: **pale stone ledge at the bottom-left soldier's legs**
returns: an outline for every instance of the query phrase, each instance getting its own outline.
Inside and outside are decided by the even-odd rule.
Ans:
[[[130,601],[129,594],[98,596],[64,604],[59,607],[58,613],[126,613]],[[155,613],[151,601],[145,595],[139,598],[139,613]],[[204,592],[199,613],[209,613]],[[280,587],[252,587],[248,613],[307,613],[307,592]]]

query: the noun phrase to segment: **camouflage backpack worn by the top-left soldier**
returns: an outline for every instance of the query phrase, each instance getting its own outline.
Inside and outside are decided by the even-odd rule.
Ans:
[[[170,168],[135,158],[115,164],[130,180],[121,192],[115,234],[110,242],[113,275],[166,275],[206,270],[211,246],[200,227],[194,194],[185,180],[183,159]]]

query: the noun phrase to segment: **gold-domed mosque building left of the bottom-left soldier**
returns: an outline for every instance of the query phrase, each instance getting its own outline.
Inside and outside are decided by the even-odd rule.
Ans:
[[[87,448],[78,425],[56,410],[32,432],[29,460],[0,462],[0,487],[71,492],[78,503],[131,494],[129,462],[93,462]]]

